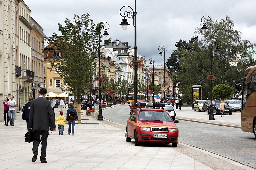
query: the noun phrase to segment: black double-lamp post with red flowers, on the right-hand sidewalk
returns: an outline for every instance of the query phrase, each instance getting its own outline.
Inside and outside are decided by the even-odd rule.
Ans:
[[[208,17],[209,19],[204,18],[204,17]],[[203,18],[204,18],[204,21],[203,21]],[[210,24],[210,47],[211,47],[211,49],[210,49],[210,50],[211,50],[211,51],[210,51],[210,60],[211,60],[211,62],[210,62],[210,69],[211,69],[211,82],[210,82],[211,85],[210,85],[210,87],[211,87],[211,104],[210,104],[209,120],[215,120],[214,115],[213,115],[213,107],[212,107],[212,84],[213,84],[213,82],[214,82],[214,79],[213,79],[213,77],[212,77],[212,47],[213,47],[213,42],[214,42],[214,41],[217,41],[217,44],[216,44],[216,43],[214,43],[214,44],[215,44],[215,46],[216,46],[215,52],[216,52],[217,55],[218,55],[218,54],[220,53],[220,48],[219,48],[219,46],[220,46],[220,41],[219,41],[218,39],[215,39],[215,40],[212,41],[212,19],[211,19],[211,17],[205,15],[205,16],[203,16],[203,17],[201,18],[201,22],[204,24],[203,27],[202,27],[202,29],[208,29],[205,24],[207,24],[207,23]]]

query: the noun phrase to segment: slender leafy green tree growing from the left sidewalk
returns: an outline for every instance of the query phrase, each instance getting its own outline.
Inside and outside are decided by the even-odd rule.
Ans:
[[[61,56],[51,56],[49,62],[52,67],[58,67],[60,77],[67,83],[67,87],[62,85],[62,91],[74,94],[78,118],[81,117],[80,96],[89,88],[91,70],[95,69],[92,44],[100,48],[102,26],[102,22],[95,24],[89,19],[89,14],[74,15],[73,22],[66,18],[65,26],[58,24],[60,34],[53,33],[51,38],[45,39],[55,51],[61,52]]]

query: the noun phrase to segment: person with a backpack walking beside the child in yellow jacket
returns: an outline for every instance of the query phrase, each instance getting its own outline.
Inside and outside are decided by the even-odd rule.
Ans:
[[[68,134],[71,133],[72,128],[72,136],[74,135],[75,122],[77,120],[77,112],[74,109],[74,104],[69,103],[69,109],[67,111],[67,120],[68,120]]]

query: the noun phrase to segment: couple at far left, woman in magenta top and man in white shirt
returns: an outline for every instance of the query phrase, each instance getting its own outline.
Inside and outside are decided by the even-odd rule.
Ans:
[[[4,125],[8,126],[9,122],[11,126],[14,126],[15,107],[17,102],[13,99],[14,96],[5,98],[3,103]]]

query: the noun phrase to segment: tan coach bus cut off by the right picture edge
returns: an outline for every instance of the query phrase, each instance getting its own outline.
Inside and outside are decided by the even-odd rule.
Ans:
[[[256,138],[256,66],[248,67],[244,72],[244,78],[235,83],[235,93],[239,92],[240,82],[242,87],[242,131],[254,133]]]

